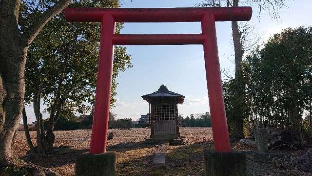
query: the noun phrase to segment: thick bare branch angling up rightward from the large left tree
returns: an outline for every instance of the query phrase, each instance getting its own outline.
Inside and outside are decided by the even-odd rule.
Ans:
[[[52,7],[47,9],[39,19],[32,24],[32,26],[23,34],[23,41],[26,45],[33,42],[36,36],[39,34],[42,27],[51,20],[56,14],[60,13],[65,7],[68,6],[70,0],[59,0]]]

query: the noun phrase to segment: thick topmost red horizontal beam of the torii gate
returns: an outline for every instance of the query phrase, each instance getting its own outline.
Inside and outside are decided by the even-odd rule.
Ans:
[[[251,7],[186,7],[186,8],[66,8],[69,22],[101,22],[111,14],[115,22],[200,22],[205,14],[215,21],[249,21]]]

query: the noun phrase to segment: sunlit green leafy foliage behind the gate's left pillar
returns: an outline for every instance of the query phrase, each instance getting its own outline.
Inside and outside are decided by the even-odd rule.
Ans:
[[[40,13],[45,3],[32,7],[32,1],[24,1],[22,28],[27,28],[28,21],[32,20],[31,15],[24,14],[31,11]],[[70,7],[119,7],[119,2],[74,0]],[[47,23],[29,47],[25,69],[26,102],[31,102],[34,92],[40,89],[42,98],[48,105],[48,112],[57,106],[60,107],[60,112],[90,112],[97,82],[100,28],[100,23],[96,22],[66,22],[64,14],[57,15]],[[122,24],[117,23],[116,33],[121,28]],[[116,102],[118,72],[129,67],[132,64],[127,48],[116,46],[111,106]]]

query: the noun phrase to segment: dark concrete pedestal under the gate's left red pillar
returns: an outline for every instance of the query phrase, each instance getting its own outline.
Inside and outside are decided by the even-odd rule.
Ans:
[[[75,176],[115,176],[116,153],[104,154],[84,153],[77,157]]]

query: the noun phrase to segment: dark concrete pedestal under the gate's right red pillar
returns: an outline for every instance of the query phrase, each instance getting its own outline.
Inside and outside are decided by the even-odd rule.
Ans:
[[[246,155],[204,151],[205,176],[246,176]]]

